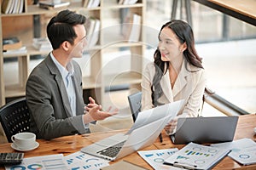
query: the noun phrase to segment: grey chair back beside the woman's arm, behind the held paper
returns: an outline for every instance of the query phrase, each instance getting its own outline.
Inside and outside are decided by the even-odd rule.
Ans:
[[[128,101],[131,109],[132,119],[135,122],[137,114],[141,111],[142,108],[142,92],[137,92],[128,96]]]

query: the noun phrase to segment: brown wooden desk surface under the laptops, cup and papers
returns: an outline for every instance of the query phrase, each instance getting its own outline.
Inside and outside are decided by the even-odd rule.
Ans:
[[[247,116],[240,116],[236,128],[236,136],[235,139],[242,139],[242,138],[250,138],[255,140],[256,136],[253,136],[253,127],[256,127],[256,115],[247,115]],[[46,156],[46,155],[53,155],[53,154],[63,154],[67,156],[71,153],[79,151],[82,147],[88,144],[92,144],[100,139],[104,139],[108,136],[111,136],[115,133],[125,133],[127,130],[117,130],[111,131],[108,133],[90,133],[84,135],[73,135],[73,136],[66,136],[57,139],[52,139],[50,141],[44,139],[38,139],[38,143],[40,144],[38,149],[25,152],[25,157],[31,156]],[[171,140],[165,133],[163,134],[163,143],[160,143],[159,139],[157,139],[154,144],[144,148],[143,150],[156,150],[156,149],[167,149],[167,148],[179,148],[181,149],[184,145],[183,144],[172,144]],[[0,144],[1,152],[15,152],[10,147],[10,144]],[[137,154],[137,152],[125,156],[122,158],[125,161],[131,161],[136,163],[137,165],[146,167],[148,169],[152,169],[148,165],[146,161],[143,161],[143,158]],[[119,161],[119,160],[117,160]],[[114,163],[110,162],[111,164]],[[234,169],[234,168],[244,168],[244,169],[255,169],[256,165],[251,166],[244,166],[241,167],[236,161],[230,159],[230,157],[225,157],[224,160],[220,161],[216,167],[213,169]],[[0,167],[0,170],[4,169],[4,167]]]

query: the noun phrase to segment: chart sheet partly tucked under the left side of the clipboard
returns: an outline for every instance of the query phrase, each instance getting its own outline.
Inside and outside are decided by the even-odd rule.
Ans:
[[[166,150],[139,150],[137,153],[154,169],[169,170],[176,169],[176,167],[164,165],[163,163],[166,158],[172,156],[175,152],[177,152],[177,150],[177,148]]]

